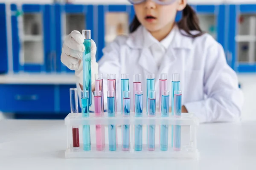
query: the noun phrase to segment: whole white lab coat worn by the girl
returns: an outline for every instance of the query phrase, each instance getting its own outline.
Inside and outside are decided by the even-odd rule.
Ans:
[[[128,36],[119,36],[103,49],[104,55],[98,64],[99,73],[104,77],[105,110],[107,110],[107,74],[116,74],[118,112],[121,111],[121,74],[130,76],[131,111],[133,110],[133,74],[142,74],[143,112],[145,112],[146,74],[155,74],[158,106],[159,75],[168,74],[168,90],[171,93],[172,74],[179,73],[182,105],[185,105],[189,112],[195,113],[200,122],[226,122],[240,119],[243,94],[239,89],[236,73],[227,65],[224,50],[218,42],[209,34],[195,39],[184,36],[175,27],[174,40],[166,50],[158,68],[149,48],[143,48],[142,30],[140,26]],[[196,33],[192,31],[192,34]],[[79,85],[77,87],[80,90]],[[170,94],[170,107],[171,98]],[[90,107],[90,111],[94,111],[94,104]]]

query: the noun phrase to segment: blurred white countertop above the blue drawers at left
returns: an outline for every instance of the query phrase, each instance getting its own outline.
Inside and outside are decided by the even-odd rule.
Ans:
[[[76,84],[74,74],[18,73],[0,75],[0,84]]]

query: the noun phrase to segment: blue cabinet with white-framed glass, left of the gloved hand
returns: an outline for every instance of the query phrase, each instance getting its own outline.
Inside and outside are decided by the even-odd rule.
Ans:
[[[50,5],[11,5],[14,72],[50,72],[52,59]]]

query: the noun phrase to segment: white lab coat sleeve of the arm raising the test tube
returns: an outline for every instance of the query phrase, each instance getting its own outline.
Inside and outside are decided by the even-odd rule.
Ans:
[[[99,74],[103,74],[103,91],[104,91],[104,110],[107,110],[107,91],[108,91],[108,74],[116,74],[116,87],[119,87],[119,73],[120,73],[120,64],[119,64],[119,47],[120,41],[122,41],[122,37],[117,37],[116,40],[107,45],[102,51],[103,56],[98,61],[99,65]],[[79,83],[76,84],[79,93],[81,93],[81,88]],[[118,91],[118,89],[116,89]],[[118,93],[116,93],[118,94]],[[79,100],[81,99],[81,95],[79,95]],[[118,98],[117,100],[118,101]],[[80,104],[80,103],[79,103]],[[118,105],[117,105],[118,106]],[[81,107],[81,105],[80,105]],[[90,107],[90,111],[95,110],[94,105],[94,95],[92,92],[92,105]]]

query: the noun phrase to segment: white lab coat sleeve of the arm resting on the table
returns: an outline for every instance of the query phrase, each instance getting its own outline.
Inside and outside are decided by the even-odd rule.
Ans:
[[[218,43],[208,48],[204,67],[202,101],[185,103],[188,112],[195,113],[200,122],[232,122],[240,119],[243,94],[238,78],[227,65],[224,50]]]

